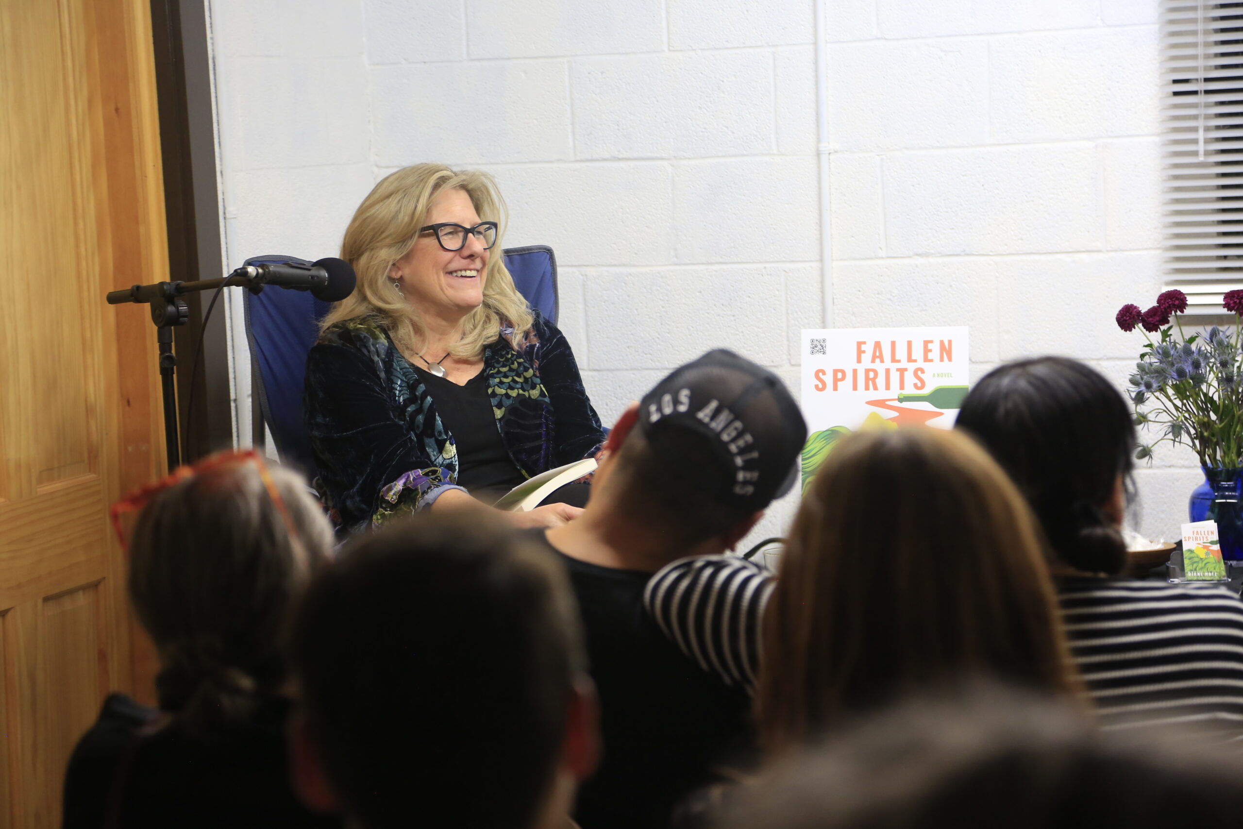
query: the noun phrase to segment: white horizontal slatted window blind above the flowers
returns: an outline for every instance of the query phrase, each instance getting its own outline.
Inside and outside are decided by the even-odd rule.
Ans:
[[[1243,288],[1243,2],[1161,0],[1165,281],[1188,313]]]

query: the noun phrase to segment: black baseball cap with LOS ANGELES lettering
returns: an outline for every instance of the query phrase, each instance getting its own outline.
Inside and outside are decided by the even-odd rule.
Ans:
[[[798,480],[807,424],[779,377],[718,348],[674,369],[639,404],[639,428],[671,474],[741,510],[763,510]],[[680,464],[687,440],[707,441],[710,469]]]

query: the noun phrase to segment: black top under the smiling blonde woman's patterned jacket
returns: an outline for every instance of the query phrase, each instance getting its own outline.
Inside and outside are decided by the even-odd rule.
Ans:
[[[415,367],[436,404],[445,429],[457,445],[457,483],[491,503],[526,479],[501,441],[501,430],[487,393],[487,372],[480,372],[464,385]]]

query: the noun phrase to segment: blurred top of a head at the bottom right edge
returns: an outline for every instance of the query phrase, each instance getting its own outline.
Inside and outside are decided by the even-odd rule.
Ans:
[[[1227,829],[1237,753],[1101,732],[1019,695],[914,701],[738,790],[717,829]]]

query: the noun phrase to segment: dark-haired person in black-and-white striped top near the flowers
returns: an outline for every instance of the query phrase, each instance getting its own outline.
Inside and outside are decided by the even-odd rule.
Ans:
[[[1135,428],[1091,368],[1045,357],[989,372],[957,425],[1027,496],[1054,562],[1070,649],[1106,727],[1137,721],[1243,723],[1243,603],[1226,588],[1111,578]]]

